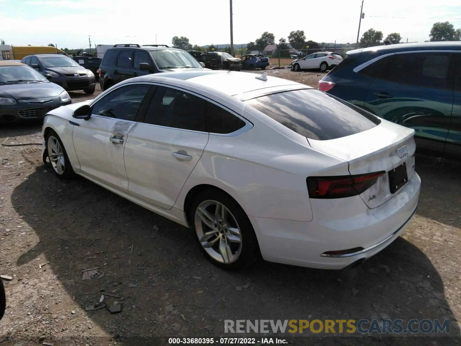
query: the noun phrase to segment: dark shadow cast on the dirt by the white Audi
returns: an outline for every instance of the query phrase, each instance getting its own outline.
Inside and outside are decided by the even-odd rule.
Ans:
[[[431,196],[431,203],[443,203],[440,195]],[[241,272],[226,272],[202,256],[189,229],[86,179],[60,180],[39,165],[11,198],[40,237],[17,265],[46,256],[82,306],[81,313],[123,345],[134,345],[130,338],[154,335],[236,336],[224,334],[226,319],[454,319],[437,269],[402,238],[353,270],[261,261]],[[82,270],[92,267],[104,276],[82,280]],[[120,314],[85,311],[102,289],[123,297]],[[450,335],[459,335],[456,322]],[[291,335],[290,340],[304,343]],[[429,340],[326,338],[322,344],[434,345]],[[453,338],[437,340],[436,345],[449,345]]]

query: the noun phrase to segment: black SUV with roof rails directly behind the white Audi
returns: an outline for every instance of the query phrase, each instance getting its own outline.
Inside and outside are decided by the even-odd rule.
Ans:
[[[106,90],[128,78],[150,73],[202,69],[185,50],[165,45],[116,44],[106,50],[99,67],[99,84]]]

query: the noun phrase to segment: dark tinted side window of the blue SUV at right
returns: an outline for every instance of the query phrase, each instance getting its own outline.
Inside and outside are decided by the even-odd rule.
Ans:
[[[431,88],[450,88],[447,83],[450,54],[405,53],[386,56],[366,66],[361,73],[394,83]]]

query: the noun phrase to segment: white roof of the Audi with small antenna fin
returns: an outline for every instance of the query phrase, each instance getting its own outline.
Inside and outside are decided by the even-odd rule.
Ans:
[[[187,80],[187,82],[199,84],[230,96],[244,94],[260,89],[287,85],[295,85],[296,87],[303,86],[307,89],[311,88],[305,84],[300,84],[288,79],[276,78],[272,76],[267,76],[267,80],[264,81],[256,78],[259,76],[261,75],[249,72],[203,69],[195,71],[154,73],[142,77],[137,77],[136,80],[149,82],[155,82],[156,78],[175,78],[184,81]],[[133,81],[133,78],[128,79],[127,81],[129,80]]]

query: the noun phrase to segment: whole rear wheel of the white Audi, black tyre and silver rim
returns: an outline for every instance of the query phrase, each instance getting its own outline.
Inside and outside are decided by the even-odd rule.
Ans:
[[[242,207],[223,191],[210,189],[195,196],[189,221],[201,251],[224,269],[240,269],[257,258],[258,241]]]

